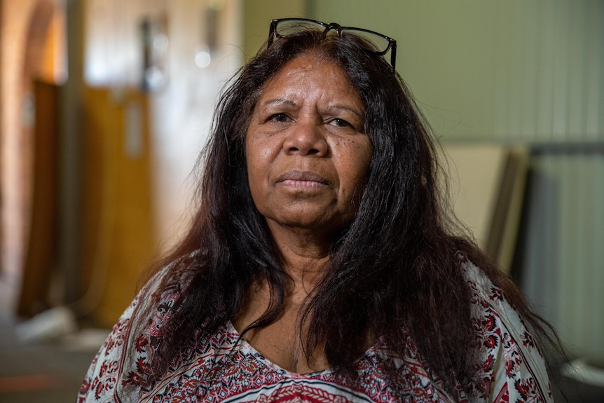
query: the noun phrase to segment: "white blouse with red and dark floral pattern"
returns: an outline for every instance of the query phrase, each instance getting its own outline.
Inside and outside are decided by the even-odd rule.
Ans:
[[[378,339],[355,362],[358,376],[350,380],[330,369],[313,374],[282,369],[254,350],[230,322],[210,337],[193,338],[160,381],[142,387],[153,341],[188,285],[190,275],[183,270],[160,291],[144,334],[131,332],[131,318],[143,308],[141,296],[157,289],[165,274],[156,275],[132,301],[92,361],[77,402],[552,402],[543,357],[521,318],[479,268],[467,265],[466,273],[482,362],[479,381],[466,388],[469,396],[460,384],[454,397],[445,391],[410,336],[401,356]]]

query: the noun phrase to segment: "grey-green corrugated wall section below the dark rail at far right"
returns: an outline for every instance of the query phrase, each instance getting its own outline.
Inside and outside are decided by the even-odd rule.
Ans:
[[[570,353],[604,362],[604,147],[538,150],[519,246],[523,291]]]

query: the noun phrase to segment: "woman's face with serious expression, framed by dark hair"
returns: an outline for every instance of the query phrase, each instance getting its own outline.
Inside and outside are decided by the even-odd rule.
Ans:
[[[371,160],[364,107],[342,69],[314,55],[261,89],[245,139],[249,189],[269,228],[332,235],[350,224]]]

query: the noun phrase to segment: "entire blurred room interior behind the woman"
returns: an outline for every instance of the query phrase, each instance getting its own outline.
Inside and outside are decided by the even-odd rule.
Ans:
[[[220,89],[300,16],[397,39],[455,211],[604,401],[603,1],[0,4],[1,402],[75,398],[186,227]]]

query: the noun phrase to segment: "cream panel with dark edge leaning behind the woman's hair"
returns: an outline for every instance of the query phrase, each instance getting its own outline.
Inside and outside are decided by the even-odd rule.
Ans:
[[[448,197],[456,217],[502,271],[509,273],[521,217],[528,151],[521,146],[446,143]]]

